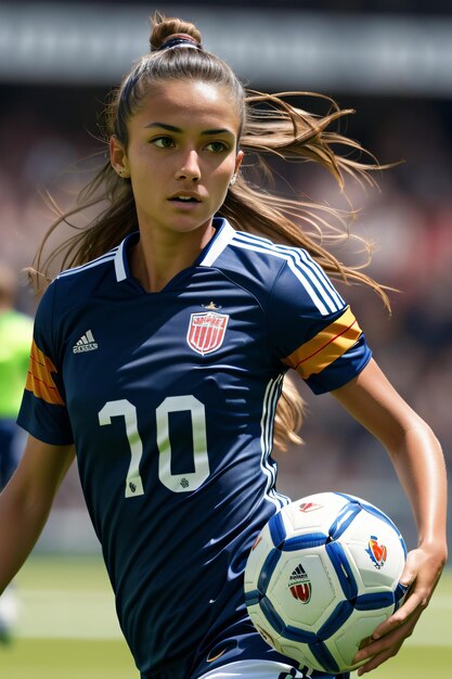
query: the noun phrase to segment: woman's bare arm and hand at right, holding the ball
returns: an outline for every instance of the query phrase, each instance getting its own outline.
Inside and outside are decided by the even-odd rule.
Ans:
[[[406,559],[401,581],[411,587],[405,603],[379,625],[356,662],[373,656],[358,675],[396,655],[427,606],[447,560],[447,479],[441,447],[430,427],[390,385],[374,360],[344,387],[337,400],[388,450],[410,500],[418,547]]]

